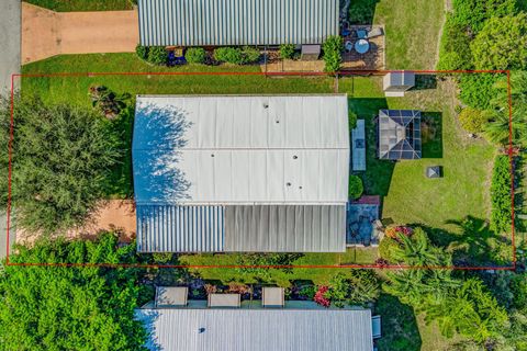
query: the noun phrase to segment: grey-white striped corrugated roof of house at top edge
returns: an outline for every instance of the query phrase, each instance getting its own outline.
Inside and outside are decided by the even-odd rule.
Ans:
[[[322,44],[338,0],[138,0],[142,45]]]

